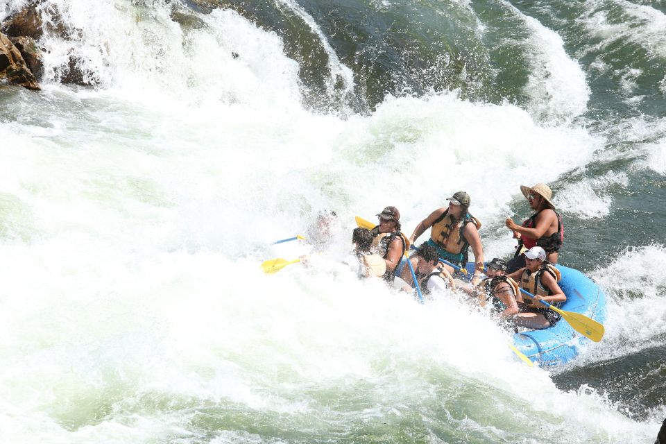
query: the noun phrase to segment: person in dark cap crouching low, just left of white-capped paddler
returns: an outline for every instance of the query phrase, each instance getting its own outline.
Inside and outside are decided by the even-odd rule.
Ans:
[[[518,284],[506,275],[506,262],[497,257],[486,264],[486,279],[470,293],[477,297],[481,307],[490,302],[491,311],[500,321],[511,322],[518,314],[518,302],[522,303]]]

